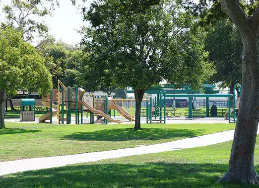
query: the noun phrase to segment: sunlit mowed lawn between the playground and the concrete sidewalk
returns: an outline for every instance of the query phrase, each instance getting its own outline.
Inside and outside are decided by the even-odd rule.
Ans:
[[[137,147],[234,129],[234,124],[62,125],[6,122],[0,161]]]

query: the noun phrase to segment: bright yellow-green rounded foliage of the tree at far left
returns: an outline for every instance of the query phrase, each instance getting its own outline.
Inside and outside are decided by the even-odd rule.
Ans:
[[[44,57],[21,33],[11,27],[0,28],[0,90],[8,94],[17,90],[48,94],[52,88],[51,75]]]

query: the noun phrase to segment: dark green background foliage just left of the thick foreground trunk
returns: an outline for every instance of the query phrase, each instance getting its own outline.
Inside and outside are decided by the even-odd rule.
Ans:
[[[228,19],[218,21],[208,33],[205,49],[210,52],[210,60],[214,62],[217,73],[213,75],[213,83],[221,83],[221,87],[231,87],[242,81],[242,42],[240,33]]]

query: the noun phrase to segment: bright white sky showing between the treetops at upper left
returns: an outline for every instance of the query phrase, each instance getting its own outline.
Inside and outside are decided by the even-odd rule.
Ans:
[[[4,14],[2,13],[3,4],[10,4],[11,0],[0,0],[0,20],[4,20]],[[54,0],[55,1],[55,0]],[[93,0],[87,0],[86,6]],[[76,44],[80,41],[81,36],[76,30],[79,30],[82,25],[86,25],[87,22],[83,22],[82,15],[80,14],[79,4],[82,0],[76,0],[77,5],[73,6],[70,0],[59,0],[60,6],[53,12],[53,16],[45,16],[44,20],[50,28],[50,34],[54,35],[56,39],[61,39],[68,44]],[[198,2],[198,0],[194,0]],[[37,39],[34,44],[37,43]]]

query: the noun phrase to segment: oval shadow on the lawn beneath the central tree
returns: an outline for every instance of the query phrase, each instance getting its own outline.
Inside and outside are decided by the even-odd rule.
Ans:
[[[160,140],[167,138],[195,137],[205,130],[143,128],[143,130],[105,129],[95,132],[76,132],[65,135],[63,139],[88,141],[128,141],[128,140]]]

